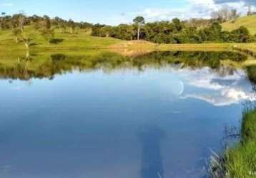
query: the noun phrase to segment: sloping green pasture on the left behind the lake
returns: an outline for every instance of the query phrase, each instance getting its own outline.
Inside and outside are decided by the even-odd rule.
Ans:
[[[62,33],[60,30],[55,30],[54,38],[61,39],[58,44],[49,44],[46,39],[41,36],[39,31],[36,31],[32,26],[26,26],[25,35],[31,38],[31,43],[34,43],[30,48],[36,49],[51,49],[51,50],[72,50],[83,48],[105,48],[121,42],[116,38],[99,38],[90,35],[90,31],[77,30],[76,33]],[[25,50],[23,43],[16,43],[14,36],[10,30],[0,31],[0,50]]]

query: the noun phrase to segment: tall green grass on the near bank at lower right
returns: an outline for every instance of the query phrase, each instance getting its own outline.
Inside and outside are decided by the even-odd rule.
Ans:
[[[229,177],[256,177],[256,109],[246,110],[242,120],[242,142],[227,150],[225,167]]]

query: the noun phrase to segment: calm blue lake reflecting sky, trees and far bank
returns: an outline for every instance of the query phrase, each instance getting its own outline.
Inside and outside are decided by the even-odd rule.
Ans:
[[[235,52],[0,56],[0,177],[205,177],[255,100]]]

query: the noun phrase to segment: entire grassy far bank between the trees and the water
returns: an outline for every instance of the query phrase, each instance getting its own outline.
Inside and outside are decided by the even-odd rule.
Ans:
[[[79,29],[74,33],[56,28],[54,39],[49,43],[33,26],[26,26],[25,36],[31,38],[30,51],[74,51],[86,49],[115,49],[121,53],[144,53],[143,51],[232,51],[236,50],[256,56],[256,43],[200,43],[200,44],[156,44],[147,41],[122,41],[116,38],[91,36],[90,30]],[[24,43],[16,43],[10,30],[0,31],[0,51],[26,51]],[[138,52],[139,51],[139,52]],[[252,55],[252,56],[253,56]]]

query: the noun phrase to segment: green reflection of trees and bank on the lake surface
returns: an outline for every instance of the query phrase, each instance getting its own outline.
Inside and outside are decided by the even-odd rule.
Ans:
[[[27,60],[24,54],[0,54],[0,78],[29,80],[30,78],[54,78],[54,75],[79,70],[119,68],[159,68],[179,64],[180,68],[203,68],[208,66],[222,72],[221,60],[245,60],[245,56],[234,52],[181,52],[164,51],[144,56],[125,57],[109,51],[68,51],[66,53],[33,53]],[[17,61],[19,58],[19,61]],[[8,59],[8,60],[6,60]],[[232,72],[232,68],[230,71]]]

